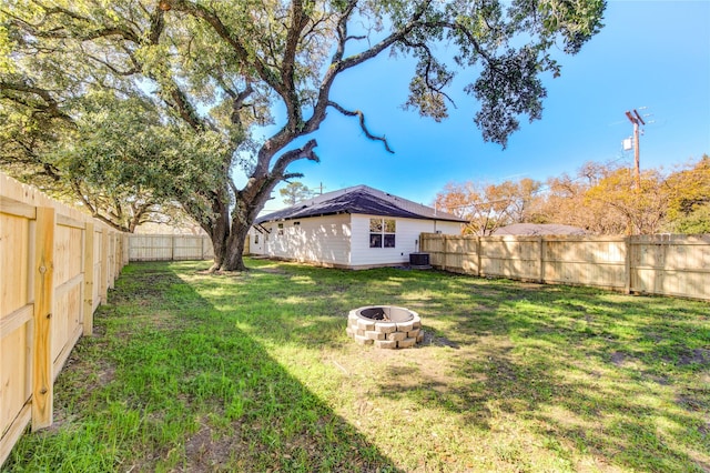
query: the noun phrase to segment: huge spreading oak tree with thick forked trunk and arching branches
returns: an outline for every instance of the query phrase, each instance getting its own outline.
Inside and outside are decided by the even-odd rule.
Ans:
[[[521,117],[541,117],[540,76],[560,70],[551,51],[578,52],[599,31],[604,8],[604,0],[13,0],[1,13],[0,51],[11,53],[0,61],[0,89],[45,94],[64,114],[90,90],[142,94],[165,123],[219,137],[214,179],[170,191],[211,235],[214,269],[241,270],[251,223],[293,177],[288,165],[318,160],[308,138],[328,110],[357,118],[388,149],[357,103],[333,95],[342,73],[386,52],[412,56],[406,105],[443,120],[460,72],[484,139],[505,147]],[[275,109],[284,111],[277,122]],[[270,122],[273,134],[250,139],[253,125]],[[248,177],[241,188],[235,165]]]

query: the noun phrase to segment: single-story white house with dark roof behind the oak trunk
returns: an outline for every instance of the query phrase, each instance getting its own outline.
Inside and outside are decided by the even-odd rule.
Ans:
[[[260,217],[250,252],[333,268],[409,262],[422,233],[459,234],[465,221],[367,185],[328,192]]]

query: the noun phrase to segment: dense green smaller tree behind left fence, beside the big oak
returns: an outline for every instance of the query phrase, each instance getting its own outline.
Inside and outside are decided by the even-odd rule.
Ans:
[[[184,185],[185,175],[194,173],[184,169],[187,162],[174,160],[179,150],[190,153],[193,164],[205,153],[189,147],[180,127],[161,123],[150,103],[87,92],[58,115],[41,97],[18,94],[7,85],[0,92],[0,171],[120,231],[191,221],[164,190],[179,181]],[[202,164],[209,168],[210,162]]]

